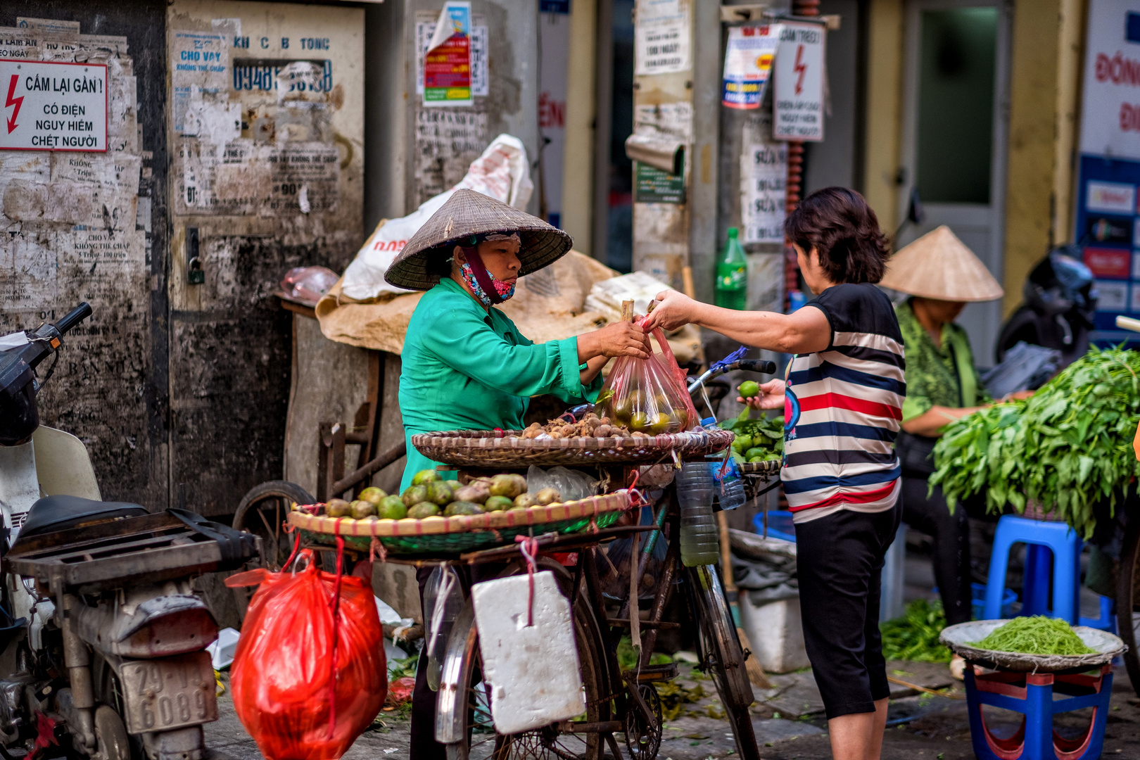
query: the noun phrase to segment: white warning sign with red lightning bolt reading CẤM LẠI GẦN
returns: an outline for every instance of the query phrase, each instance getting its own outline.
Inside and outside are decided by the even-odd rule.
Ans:
[[[107,150],[107,67],[0,60],[0,149]]]

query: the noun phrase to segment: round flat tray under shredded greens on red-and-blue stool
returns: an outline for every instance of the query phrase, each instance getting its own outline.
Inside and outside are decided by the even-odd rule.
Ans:
[[[1096,654],[1021,654],[1019,652],[979,649],[971,645],[974,641],[980,641],[986,636],[990,636],[995,628],[1004,626],[1008,622],[1008,620],[974,620],[968,623],[958,623],[956,626],[945,628],[938,638],[951,651],[962,655],[963,659],[970,662],[997,670],[1033,673],[1052,673],[1065,670],[1096,668],[1112,662],[1113,657],[1122,654],[1127,648],[1118,637],[1086,626],[1075,626],[1073,632],[1081,637],[1085,646],[1096,649]]]

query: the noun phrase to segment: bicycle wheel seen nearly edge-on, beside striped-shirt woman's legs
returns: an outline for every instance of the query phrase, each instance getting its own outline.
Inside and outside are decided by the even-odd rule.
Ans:
[[[701,659],[712,676],[725,716],[732,724],[736,752],[744,760],[760,760],[752,716],[748,710],[755,700],[752,685],[744,669],[744,652],[732,622],[720,577],[715,565],[689,567],[685,574],[697,603]]]

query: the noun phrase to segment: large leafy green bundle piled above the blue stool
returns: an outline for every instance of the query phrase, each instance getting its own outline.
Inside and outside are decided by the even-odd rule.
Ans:
[[[934,449],[951,508],[985,495],[990,512],[1027,500],[1068,522],[1085,538],[1094,507],[1112,514],[1140,463],[1132,438],[1140,420],[1140,353],[1093,348],[1031,399],[999,403],[946,426]]]

